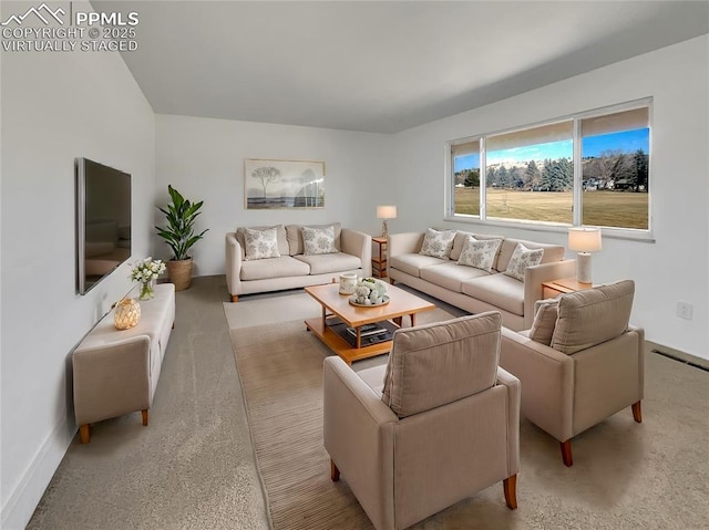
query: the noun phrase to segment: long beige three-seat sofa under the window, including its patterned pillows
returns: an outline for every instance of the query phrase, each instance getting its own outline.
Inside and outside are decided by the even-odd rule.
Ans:
[[[389,236],[387,273],[471,313],[500,311],[503,325],[520,331],[532,325],[542,282],[575,274],[576,260],[564,252],[561,245],[430,228]]]

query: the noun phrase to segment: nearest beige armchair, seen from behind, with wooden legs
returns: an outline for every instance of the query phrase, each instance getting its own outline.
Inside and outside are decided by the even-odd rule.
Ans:
[[[502,315],[397,330],[389,363],[325,361],[325,448],[378,530],[503,482],[516,508],[520,382],[499,367]]]

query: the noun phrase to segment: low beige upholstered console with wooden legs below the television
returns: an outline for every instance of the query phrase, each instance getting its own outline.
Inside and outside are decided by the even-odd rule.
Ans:
[[[74,415],[82,444],[90,441],[89,426],[94,422],[141,411],[143,425],[147,425],[175,322],[175,285],[157,284],[155,298],[140,304],[137,325],[116,330],[114,308],[72,354]]]

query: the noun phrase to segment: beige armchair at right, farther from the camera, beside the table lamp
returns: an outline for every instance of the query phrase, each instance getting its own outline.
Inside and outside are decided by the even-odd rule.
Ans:
[[[540,301],[532,329],[502,331],[500,365],[522,382],[522,415],[561,443],[625,407],[643,420],[645,332],[628,324],[630,280]]]

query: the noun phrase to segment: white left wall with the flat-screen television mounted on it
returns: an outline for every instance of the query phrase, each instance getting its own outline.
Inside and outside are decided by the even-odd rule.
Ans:
[[[155,118],[115,53],[2,53],[0,69],[0,526],[20,529],[76,430],[70,352],[132,287],[123,266],[89,294],[75,294],[74,157],[132,174],[133,252],[144,256],[152,245]]]

